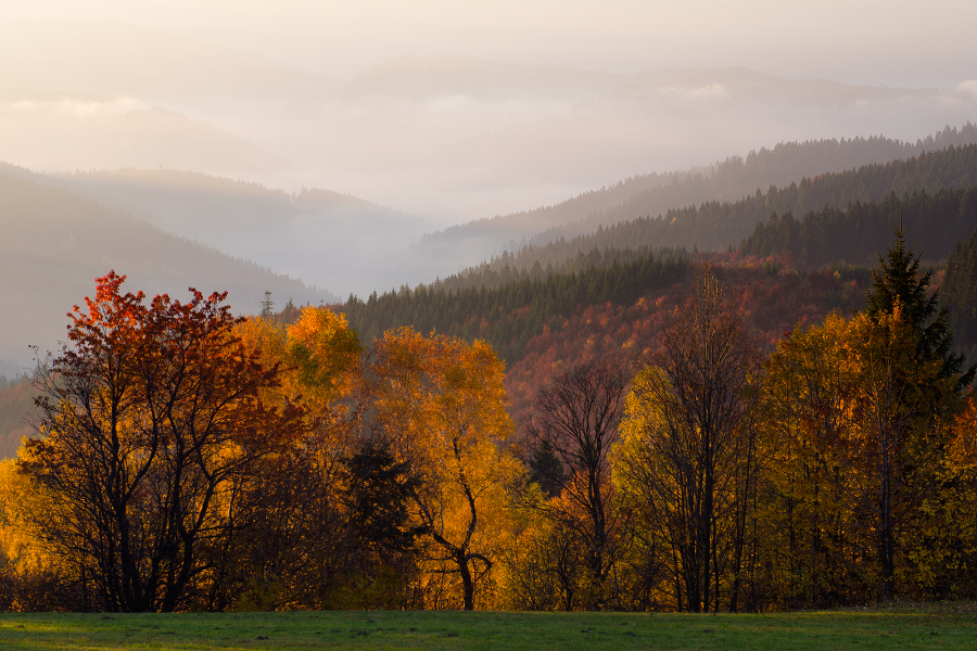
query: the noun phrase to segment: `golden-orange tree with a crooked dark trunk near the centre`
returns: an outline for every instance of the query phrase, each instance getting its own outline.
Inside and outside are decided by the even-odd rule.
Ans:
[[[461,604],[472,610],[475,586],[496,562],[507,484],[518,471],[503,447],[512,430],[503,372],[480,341],[405,328],[377,342],[377,419],[389,449],[418,480],[411,515],[429,541],[435,607],[445,587],[437,579],[457,576]]]

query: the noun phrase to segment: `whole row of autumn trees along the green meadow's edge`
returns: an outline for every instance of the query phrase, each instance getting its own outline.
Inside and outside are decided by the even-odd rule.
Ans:
[[[484,341],[404,328],[363,346],[325,307],[234,319],[224,295],[147,303],[111,273],[0,463],[0,607],[973,597],[974,371],[931,279],[899,231],[864,310],[766,356],[741,297],[697,267],[658,346],[555,363],[513,423]]]

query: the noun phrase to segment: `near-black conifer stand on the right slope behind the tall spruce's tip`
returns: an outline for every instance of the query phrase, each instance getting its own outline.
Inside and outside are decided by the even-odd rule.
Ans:
[[[977,184],[925,190],[880,201],[854,202],[846,209],[811,210],[803,219],[772,214],[740,244],[744,255],[789,253],[797,264],[817,268],[837,261],[871,263],[896,225],[914,233],[918,253],[940,260],[977,229]]]

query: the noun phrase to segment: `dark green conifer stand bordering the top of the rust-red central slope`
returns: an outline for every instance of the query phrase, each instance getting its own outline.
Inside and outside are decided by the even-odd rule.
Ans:
[[[583,270],[569,273],[551,273],[538,266],[528,273],[516,273],[511,268],[506,272],[504,267],[494,289],[449,291],[435,284],[414,290],[403,286],[398,292],[379,295],[375,292],[366,301],[351,296],[341,309],[364,342],[409,326],[419,332],[434,331],[465,341],[483,339],[503,359],[512,361],[553,319],[580,305],[634,302],[645,292],[681,280],[688,264],[684,256],[654,252],[638,253],[632,261],[621,263],[620,253],[594,251],[586,256]],[[584,266],[584,259],[580,264]],[[507,273],[513,280],[502,282]]]

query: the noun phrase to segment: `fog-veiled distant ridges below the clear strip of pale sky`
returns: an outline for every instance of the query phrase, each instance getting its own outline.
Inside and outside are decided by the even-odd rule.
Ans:
[[[914,139],[963,124],[977,101],[963,78],[893,88],[736,60],[635,72],[464,48],[359,59],[338,78],[261,41],[228,47],[125,14],[0,27],[0,159],[329,188],[445,227],[781,141]]]

